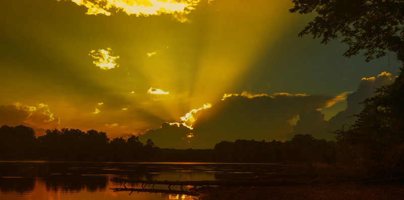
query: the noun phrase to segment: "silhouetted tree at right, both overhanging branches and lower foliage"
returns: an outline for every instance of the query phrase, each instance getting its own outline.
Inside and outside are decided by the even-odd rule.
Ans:
[[[404,1],[292,0],[291,13],[317,13],[299,33],[322,43],[342,37],[350,57],[365,51],[366,61],[394,52],[404,62]],[[392,84],[376,90],[349,130],[336,131],[341,150],[382,174],[404,173],[404,68]],[[370,169],[369,168],[369,169]]]

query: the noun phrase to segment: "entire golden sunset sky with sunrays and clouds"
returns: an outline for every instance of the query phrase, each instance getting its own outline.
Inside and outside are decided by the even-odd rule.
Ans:
[[[157,146],[332,139],[400,63],[298,37],[285,0],[15,0],[0,8],[0,125]]]

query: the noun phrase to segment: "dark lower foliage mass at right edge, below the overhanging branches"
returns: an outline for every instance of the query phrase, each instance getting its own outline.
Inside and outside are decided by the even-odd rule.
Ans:
[[[356,123],[337,131],[342,150],[381,174],[404,173],[404,79],[382,86],[367,98]],[[347,149],[348,148],[348,149]],[[348,150],[348,151],[347,151]]]

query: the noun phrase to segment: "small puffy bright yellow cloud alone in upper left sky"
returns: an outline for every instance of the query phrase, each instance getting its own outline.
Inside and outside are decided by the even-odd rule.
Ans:
[[[102,70],[110,70],[119,67],[119,65],[116,63],[116,60],[119,59],[119,56],[112,56],[111,48],[107,48],[107,50],[91,50],[89,56],[95,59],[95,61],[93,61],[92,63]]]

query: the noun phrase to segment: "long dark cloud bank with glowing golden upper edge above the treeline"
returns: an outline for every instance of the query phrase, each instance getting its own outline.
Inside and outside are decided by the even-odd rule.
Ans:
[[[182,123],[166,123],[146,131],[142,137],[153,140],[169,137],[170,143],[176,145],[170,147],[176,148],[212,148],[221,140],[284,140],[294,126],[290,121],[301,111],[324,108],[331,99],[332,96],[289,93],[225,94],[224,100],[211,108],[196,109],[197,120],[192,122],[192,129]],[[188,135],[192,135],[190,140]]]

